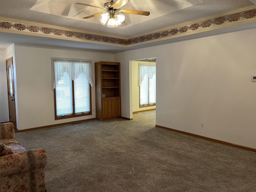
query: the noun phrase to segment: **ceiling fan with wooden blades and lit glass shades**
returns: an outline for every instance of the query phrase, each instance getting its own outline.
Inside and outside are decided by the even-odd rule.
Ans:
[[[106,10],[106,12],[99,12],[93,15],[89,15],[87,17],[84,17],[83,19],[88,19],[92,18],[94,16],[102,15],[102,19],[100,20],[101,24],[105,25],[106,22],[108,21],[107,26],[108,27],[117,27],[121,25],[124,22],[124,15],[118,14],[116,12],[121,12],[121,13],[128,13],[128,14],[136,14],[136,15],[144,15],[148,16],[150,12],[148,11],[138,11],[138,10],[129,10],[129,9],[122,9],[120,8],[127,4],[130,0],[118,0],[117,2],[114,2],[111,0],[111,2],[106,2],[104,4],[104,7],[99,7],[95,5],[89,5],[89,4],[84,4],[84,3],[76,3],[78,5],[84,5],[84,6],[90,6],[90,7],[96,7],[100,9]]]

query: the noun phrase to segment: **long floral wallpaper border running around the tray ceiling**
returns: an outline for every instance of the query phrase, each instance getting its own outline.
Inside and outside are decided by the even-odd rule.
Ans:
[[[9,22],[0,20],[0,28],[6,30],[18,30],[25,31],[31,33],[45,34],[49,36],[61,36],[66,38],[77,38],[81,40],[89,40],[94,42],[105,42],[111,44],[119,44],[119,45],[132,45],[140,42],[150,42],[152,40],[166,38],[170,36],[176,36],[179,34],[186,34],[188,32],[196,31],[200,32],[200,29],[211,28],[214,26],[220,26],[224,24],[229,24],[232,22],[239,22],[242,20],[249,20],[252,18],[256,18],[256,8],[251,10],[246,10],[242,12],[237,12],[234,14],[228,14],[225,16],[220,16],[208,20],[204,20],[201,22],[191,23],[188,25],[180,26],[178,28],[170,28],[168,30],[147,34],[144,36],[139,36],[136,38],[131,38],[128,40],[120,39],[120,38],[112,38],[108,36],[100,36],[94,34],[87,34],[82,32],[74,32],[69,30],[60,30],[56,28],[49,28],[44,26],[33,26],[28,24],[22,24],[17,22]]]

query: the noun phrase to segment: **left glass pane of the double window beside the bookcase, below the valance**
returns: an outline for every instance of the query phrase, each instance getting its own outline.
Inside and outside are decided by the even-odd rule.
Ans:
[[[56,115],[72,114],[72,80],[66,72],[56,85]]]

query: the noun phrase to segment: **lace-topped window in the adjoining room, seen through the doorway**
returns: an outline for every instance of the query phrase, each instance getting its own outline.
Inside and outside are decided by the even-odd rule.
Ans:
[[[156,105],[156,64],[139,63],[140,107]]]

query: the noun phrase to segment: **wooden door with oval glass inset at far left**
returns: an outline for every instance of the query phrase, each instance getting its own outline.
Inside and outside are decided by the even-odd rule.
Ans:
[[[6,60],[7,72],[7,87],[8,87],[8,105],[9,105],[9,121],[14,124],[16,128],[16,108],[15,108],[15,95],[14,95],[14,75],[12,57]]]

